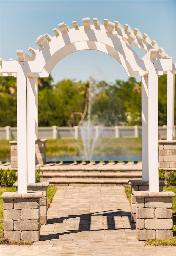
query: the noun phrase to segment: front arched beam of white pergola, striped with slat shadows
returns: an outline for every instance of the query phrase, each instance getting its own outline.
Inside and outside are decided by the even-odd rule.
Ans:
[[[111,29],[112,28],[113,26],[111,26]],[[40,47],[40,49],[37,50],[38,52],[35,53],[36,56],[34,61],[28,62],[27,72],[41,73],[43,69],[45,69],[48,73],[51,73],[51,70],[57,62],[68,54],[79,50],[99,50],[109,54],[106,47],[104,47],[105,45],[107,48],[111,47],[116,50],[116,56],[113,54],[112,57],[116,58],[121,64],[122,61],[120,58],[122,57],[119,58],[118,53],[123,56],[125,62],[128,63],[128,65],[124,67],[128,75],[140,75],[139,73],[131,74],[128,70],[128,66],[130,66],[130,70],[134,72],[144,70],[145,67],[143,61],[141,61],[134,50],[129,47],[128,41],[125,43],[121,38],[117,39],[113,34],[107,33],[105,29],[102,33],[101,30],[96,31],[95,27],[94,30],[84,30],[84,28],[81,27],[77,31],[72,30],[71,32],[70,30],[69,34],[67,33],[57,38],[51,38],[51,41],[47,43],[45,47]]]

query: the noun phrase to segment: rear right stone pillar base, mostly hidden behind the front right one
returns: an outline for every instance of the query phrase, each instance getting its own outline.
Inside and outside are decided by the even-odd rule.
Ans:
[[[131,186],[131,222],[136,223],[136,199],[133,191],[149,190],[149,182],[143,180],[129,180],[128,184]],[[165,183],[159,180],[159,191],[163,191]]]

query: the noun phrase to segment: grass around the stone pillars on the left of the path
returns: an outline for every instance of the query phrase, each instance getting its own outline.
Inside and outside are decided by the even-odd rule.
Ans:
[[[56,192],[55,187],[48,187],[47,188],[47,207],[50,207],[51,201],[53,199],[54,193]],[[4,192],[14,192],[16,191],[16,188],[0,188],[0,196]],[[31,241],[7,241],[3,238],[3,220],[4,220],[4,214],[3,214],[3,199],[0,197],[0,244],[31,244]]]

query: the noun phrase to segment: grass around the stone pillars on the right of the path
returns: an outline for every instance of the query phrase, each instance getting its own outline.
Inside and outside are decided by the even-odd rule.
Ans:
[[[176,187],[163,187],[163,191],[173,191],[176,194]],[[131,188],[125,188],[127,197],[131,203]],[[176,233],[176,197],[173,198],[173,231]],[[176,245],[176,236],[167,239],[147,240],[148,245]]]

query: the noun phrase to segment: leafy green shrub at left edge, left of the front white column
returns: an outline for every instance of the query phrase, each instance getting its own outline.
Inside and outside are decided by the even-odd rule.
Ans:
[[[11,187],[15,181],[17,181],[17,172],[15,170],[4,170],[0,169],[1,182],[0,184],[3,186]]]

